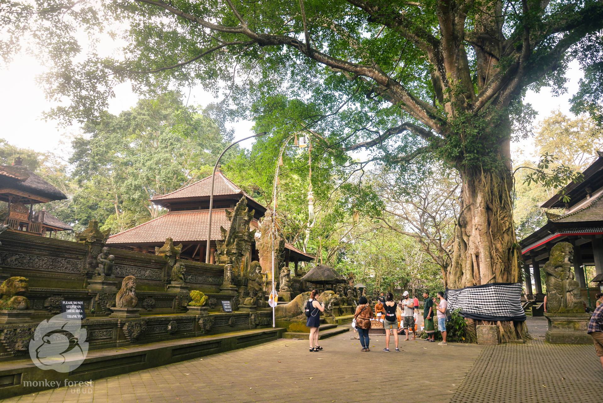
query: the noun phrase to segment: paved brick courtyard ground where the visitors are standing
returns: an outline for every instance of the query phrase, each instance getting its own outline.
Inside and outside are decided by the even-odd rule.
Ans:
[[[546,320],[528,326],[535,340],[526,344],[401,340],[399,353],[381,351],[383,336],[360,352],[352,332],[323,340],[317,353],[306,340],[282,339],[5,402],[599,402],[594,347],[546,344]]]

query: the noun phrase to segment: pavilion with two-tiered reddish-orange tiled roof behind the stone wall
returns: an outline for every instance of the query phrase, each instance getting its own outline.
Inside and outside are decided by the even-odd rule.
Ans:
[[[166,214],[139,226],[109,236],[107,244],[112,247],[136,250],[137,252],[154,253],[156,246],[162,246],[166,238],[174,243],[182,243],[182,259],[204,262],[207,243],[207,221],[209,216],[209,197],[212,177],[208,176],[191,185],[151,198],[151,202],[167,209]],[[214,263],[216,240],[221,240],[220,227],[230,228],[225,209],[235,208],[242,197],[247,199],[247,206],[254,209],[251,228],[259,229],[259,220],[267,209],[250,195],[232,183],[221,171],[216,171],[213,189],[212,239],[210,241],[209,263]],[[251,245],[251,260],[258,259],[255,243]],[[297,273],[298,262],[312,261],[315,256],[301,252],[293,245],[286,243],[285,265],[294,262]]]

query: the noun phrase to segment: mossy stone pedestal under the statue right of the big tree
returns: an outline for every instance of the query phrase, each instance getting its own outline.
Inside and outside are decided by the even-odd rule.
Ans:
[[[549,322],[546,341],[549,343],[591,344],[592,337],[587,334],[590,314],[582,313],[545,313]]]

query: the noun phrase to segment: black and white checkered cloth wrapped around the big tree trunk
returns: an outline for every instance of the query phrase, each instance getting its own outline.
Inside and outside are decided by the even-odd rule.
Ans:
[[[450,312],[478,320],[526,320],[521,303],[522,284],[491,283],[446,290]]]

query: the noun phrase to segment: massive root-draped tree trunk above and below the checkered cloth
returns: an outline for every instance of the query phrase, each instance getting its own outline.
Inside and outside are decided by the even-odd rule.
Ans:
[[[508,133],[507,125],[501,127]],[[453,261],[447,273],[448,288],[493,282],[520,281],[519,249],[513,227],[513,177],[510,136],[496,147],[498,164],[486,168],[460,168],[463,190]],[[487,148],[487,147],[486,147]],[[491,154],[490,156],[491,160]],[[469,334],[475,325],[493,322],[468,319]],[[496,322],[501,341],[525,337],[525,322]]]

